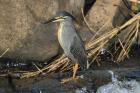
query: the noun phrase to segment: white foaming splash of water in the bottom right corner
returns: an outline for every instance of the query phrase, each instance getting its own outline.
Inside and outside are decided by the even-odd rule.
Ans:
[[[112,82],[98,88],[96,93],[140,93],[140,82],[136,80],[119,81],[112,71]]]

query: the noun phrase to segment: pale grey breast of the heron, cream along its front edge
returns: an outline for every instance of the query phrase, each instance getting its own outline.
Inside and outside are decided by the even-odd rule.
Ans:
[[[58,40],[65,53],[70,51],[69,48],[72,44],[74,35],[75,32],[71,20],[65,20],[60,23],[58,30]]]

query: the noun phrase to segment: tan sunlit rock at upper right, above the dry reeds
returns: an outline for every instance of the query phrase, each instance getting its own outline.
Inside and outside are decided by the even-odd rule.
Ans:
[[[124,13],[125,17],[129,16],[128,9],[122,0],[97,0],[86,15],[86,19],[95,32],[103,25],[105,26],[102,31],[108,31],[126,21],[120,10]]]

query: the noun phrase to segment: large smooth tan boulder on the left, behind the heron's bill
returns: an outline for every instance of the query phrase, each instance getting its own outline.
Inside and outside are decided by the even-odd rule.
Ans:
[[[84,0],[1,0],[0,54],[5,58],[44,61],[58,54],[57,24],[42,25],[61,10],[80,20]]]

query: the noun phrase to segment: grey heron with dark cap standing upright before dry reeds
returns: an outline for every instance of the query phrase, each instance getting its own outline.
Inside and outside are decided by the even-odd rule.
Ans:
[[[50,22],[60,22],[58,40],[65,55],[75,64],[73,68],[73,79],[76,76],[78,65],[80,65],[82,69],[88,67],[85,47],[80,36],[76,32],[74,20],[75,18],[70,13],[62,11],[56,13],[55,16],[45,22],[45,24]]]

